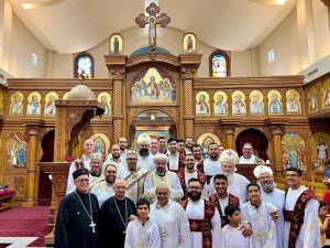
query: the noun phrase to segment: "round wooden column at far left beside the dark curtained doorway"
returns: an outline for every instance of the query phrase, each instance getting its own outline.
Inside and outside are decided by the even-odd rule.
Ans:
[[[23,207],[33,207],[36,205],[38,168],[37,162],[37,136],[42,120],[24,119],[29,134],[29,153],[28,153],[28,177],[26,177],[26,202]]]

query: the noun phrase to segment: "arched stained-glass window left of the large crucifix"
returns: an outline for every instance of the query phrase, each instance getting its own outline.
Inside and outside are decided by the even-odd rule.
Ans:
[[[75,57],[74,72],[75,77],[79,78],[84,74],[85,78],[94,77],[94,58],[89,53],[79,53]]]

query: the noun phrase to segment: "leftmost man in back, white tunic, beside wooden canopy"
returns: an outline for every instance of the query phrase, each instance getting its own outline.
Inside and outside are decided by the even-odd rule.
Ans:
[[[92,154],[92,152],[94,152],[94,141],[91,139],[85,140],[84,154],[81,159],[75,160],[70,164],[68,177],[67,177],[66,194],[69,194],[76,190],[73,174],[77,169],[86,168],[88,171],[90,171],[90,155]]]

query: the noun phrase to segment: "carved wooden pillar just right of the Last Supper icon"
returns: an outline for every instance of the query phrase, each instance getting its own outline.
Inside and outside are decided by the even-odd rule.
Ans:
[[[194,128],[194,76],[201,63],[201,54],[180,54],[180,72],[182,72],[182,98],[180,98],[180,109],[184,115],[180,119],[180,137],[191,137],[195,138]]]

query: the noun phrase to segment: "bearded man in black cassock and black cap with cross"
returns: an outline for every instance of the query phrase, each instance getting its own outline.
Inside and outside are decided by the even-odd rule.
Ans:
[[[76,191],[66,195],[59,205],[55,226],[55,248],[96,248],[99,203],[94,194],[88,193],[88,170],[78,169],[73,176]]]

